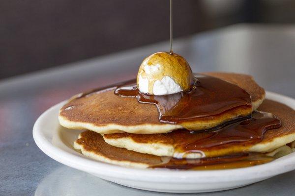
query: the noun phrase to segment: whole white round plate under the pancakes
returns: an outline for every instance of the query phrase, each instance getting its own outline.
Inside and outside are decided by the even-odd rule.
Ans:
[[[295,109],[293,98],[270,92],[266,93],[266,98]],[[171,193],[213,192],[245,186],[295,169],[295,153],[259,166],[214,171],[133,169],[102,163],[87,158],[72,147],[82,130],[66,129],[59,125],[59,108],[64,103],[51,107],[37,119],[33,127],[37,146],[64,165],[121,185]]]

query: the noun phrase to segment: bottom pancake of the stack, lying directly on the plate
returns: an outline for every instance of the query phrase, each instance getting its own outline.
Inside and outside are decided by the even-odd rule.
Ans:
[[[231,156],[202,158],[202,159],[175,159],[159,157],[113,147],[104,142],[99,133],[85,131],[75,141],[74,148],[92,159],[114,165],[133,168],[168,168],[192,170],[217,170],[249,167],[270,162],[274,158],[260,153],[241,153]]]

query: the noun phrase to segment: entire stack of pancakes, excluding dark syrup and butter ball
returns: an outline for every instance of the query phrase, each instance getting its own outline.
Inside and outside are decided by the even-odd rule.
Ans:
[[[259,152],[275,158],[294,151],[295,110],[276,101],[265,100],[265,91],[249,75],[236,73],[203,73],[220,78],[246,90],[252,100],[252,108],[236,112],[224,112],[210,119],[195,119],[193,134],[205,134],[202,130],[219,126],[240,116],[251,115],[255,110],[274,114],[280,119],[280,128],[267,130],[258,143],[235,142],[206,150],[185,152],[185,158],[198,161],[224,157],[243,152]],[[74,96],[59,111],[59,122],[71,129],[86,129],[79,135],[74,148],[93,159],[121,166],[148,168],[167,163],[171,157],[181,155],[178,146],[189,141],[190,131],[181,123],[159,121],[157,107],[139,103],[136,98],[119,97],[116,87]],[[177,139],[176,139],[177,138]],[[180,139],[179,139],[180,138]],[[181,156],[180,158],[183,158]]]

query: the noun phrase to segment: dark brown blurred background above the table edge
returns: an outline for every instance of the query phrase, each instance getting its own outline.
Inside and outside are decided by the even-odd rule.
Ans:
[[[174,0],[174,37],[295,23],[295,0]],[[0,79],[169,39],[169,0],[2,0]]]

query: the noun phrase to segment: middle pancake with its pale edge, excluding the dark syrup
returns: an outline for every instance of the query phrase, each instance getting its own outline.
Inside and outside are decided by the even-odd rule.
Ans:
[[[189,152],[188,158],[198,158],[202,156],[214,157],[226,154],[250,152],[270,152],[278,147],[295,141],[295,110],[276,101],[266,99],[258,108],[260,111],[269,112],[277,116],[282,123],[280,128],[267,130],[264,138],[259,143],[234,142],[214,147],[202,148],[202,151]],[[195,133],[205,134],[205,133]],[[177,136],[177,137],[176,137]],[[177,138],[178,140],[175,140]],[[190,138],[193,138],[188,131],[176,130],[167,134],[130,134],[115,133],[104,134],[105,141],[115,147],[123,147],[141,153],[153,154],[157,156],[175,156],[182,151],[177,150],[183,143],[187,146]],[[199,148],[198,148],[199,149]],[[196,149],[196,150],[198,150]],[[203,154],[204,153],[204,154]],[[181,154],[180,154],[181,155]]]

